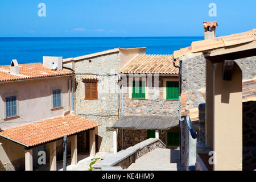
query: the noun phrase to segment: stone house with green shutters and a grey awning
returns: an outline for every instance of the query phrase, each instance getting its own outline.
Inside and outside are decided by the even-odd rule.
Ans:
[[[177,148],[179,68],[172,55],[137,55],[118,73],[121,116],[113,126],[118,135],[116,151],[147,138]]]

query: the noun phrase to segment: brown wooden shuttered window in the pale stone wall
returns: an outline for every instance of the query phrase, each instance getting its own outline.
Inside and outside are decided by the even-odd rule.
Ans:
[[[85,100],[98,99],[98,84],[97,80],[85,80]]]

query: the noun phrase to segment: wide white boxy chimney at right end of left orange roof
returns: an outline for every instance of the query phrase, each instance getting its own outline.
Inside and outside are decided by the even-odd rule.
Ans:
[[[43,66],[52,70],[63,70],[62,57],[43,56]]]

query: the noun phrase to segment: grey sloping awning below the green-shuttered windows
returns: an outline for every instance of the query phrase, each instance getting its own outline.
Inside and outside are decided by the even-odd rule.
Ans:
[[[178,116],[165,117],[158,115],[121,116],[114,123],[114,128],[141,130],[168,130],[179,125]]]

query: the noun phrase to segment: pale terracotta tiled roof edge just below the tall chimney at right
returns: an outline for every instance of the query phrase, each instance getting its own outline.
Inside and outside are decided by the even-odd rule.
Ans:
[[[250,31],[232,34],[227,36],[219,36],[207,40],[200,40],[192,42],[191,47],[185,47],[174,51],[174,59],[195,52],[208,52],[212,49],[226,48],[229,46],[236,46],[238,44],[251,43],[256,40],[256,28]],[[251,45],[251,48],[256,48]]]

